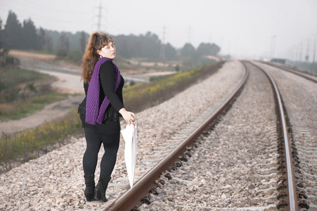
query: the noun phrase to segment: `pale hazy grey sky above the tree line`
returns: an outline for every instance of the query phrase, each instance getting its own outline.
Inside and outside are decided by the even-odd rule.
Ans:
[[[152,32],[177,49],[214,43],[235,58],[312,62],[317,45],[316,0],[0,0],[3,25],[10,10],[46,30],[91,34],[100,23],[114,36]]]

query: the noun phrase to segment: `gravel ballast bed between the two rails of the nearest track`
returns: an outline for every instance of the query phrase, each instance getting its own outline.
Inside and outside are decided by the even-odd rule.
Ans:
[[[276,210],[276,110],[264,73],[251,68],[230,110],[193,156],[140,210]],[[160,186],[160,185],[159,185]]]

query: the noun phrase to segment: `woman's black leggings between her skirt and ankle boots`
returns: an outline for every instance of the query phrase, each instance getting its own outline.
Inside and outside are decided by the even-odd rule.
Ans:
[[[84,174],[86,176],[95,174],[98,162],[98,152],[103,143],[105,153],[101,159],[101,175],[111,175],[115,162],[117,160],[117,151],[119,148],[120,132],[115,134],[103,134],[98,130],[84,127],[86,137],[86,151],[83,158]]]

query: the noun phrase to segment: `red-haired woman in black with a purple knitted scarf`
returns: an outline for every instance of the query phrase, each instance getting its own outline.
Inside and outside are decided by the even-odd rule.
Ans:
[[[115,56],[113,39],[104,32],[93,32],[82,58],[82,79],[86,98],[81,106],[86,104],[86,109],[83,111],[79,106],[86,138],[83,167],[86,184],[84,194],[87,201],[107,201],[105,191],[115,167],[119,148],[119,116],[121,115],[128,124],[134,124],[134,113],[124,108],[124,79],[117,66],[112,63]],[[94,174],[101,143],[105,153],[101,160],[99,181],[95,187]]]

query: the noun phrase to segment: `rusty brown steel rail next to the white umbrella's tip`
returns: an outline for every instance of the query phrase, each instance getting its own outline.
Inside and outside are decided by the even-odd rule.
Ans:
[[[214,111],[214,113],[203,122],[198,129],[195,129],[186,139],[184,139],[179,146],[174,148],[168,155],[166,155],[160,162],[157,163],[151,170],[149,170],[141,179],[139,179],[133,188],[124,192],[117,200],[112,202],[109,207],[105,210],[131,210],[136,205],[141,204],[141,199],[144,196],[149,195],[149,191],[153,186],[155,186],[154,181],[160,178],[160,175],[165,170],[169,170],[174,162],[179,160],[179,156],[183,155],[186,151],[186,147],[192,146],[195,139],[197,139],[202,132],[209,127],[214,120],[216,120],[219,115],[226,109],[226,107],[235,99],[236,96],[242,90],[243,85],[247,81],[249,76],[249,69],[245,63],[242,63],[245,66],[245,75],[242,78],[240,84],[235,88],[233,93],[224,101],[224,103],[219,106],[219,108]]]

